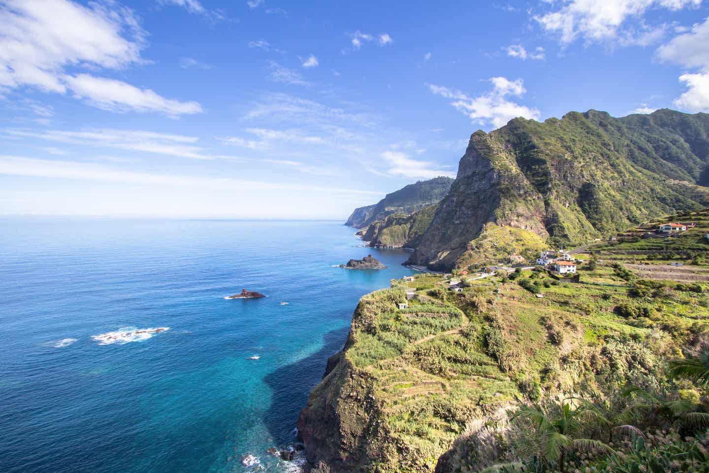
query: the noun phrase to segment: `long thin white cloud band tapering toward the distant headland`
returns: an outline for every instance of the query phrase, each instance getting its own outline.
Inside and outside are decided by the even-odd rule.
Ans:
[[[0,174],[14,176],[45,177],[52,179],[80,179],[94,182],[117,182],[155,187],[190,187],[211,190],[290,190],[312,191],[325,194],[376,194],[374,191],[345,189],[342,187],[318,187],[279,182],[246,181],[221,177],[181,176],[176,174],[150,174],[125,171],[93,163],[37,160],[28,157],[0,155]]]

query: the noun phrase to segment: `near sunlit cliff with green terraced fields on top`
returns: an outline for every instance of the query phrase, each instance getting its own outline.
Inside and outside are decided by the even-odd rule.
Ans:
[[[562,285],[525,271],[453,292],[444,277],[420,275],[364,296],[298,418],[308,460],[333,473],[479,472],[524,455],[506,425],[516,399],[618,391],[709,336],[703,294],[629,301],[622,276],[599,265]],[[407,291],[417,297],[400,309]],[[620,304],[652,321],[618,316]]]

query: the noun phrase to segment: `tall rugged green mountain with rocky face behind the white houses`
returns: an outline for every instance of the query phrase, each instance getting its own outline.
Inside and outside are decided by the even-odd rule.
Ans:
[[[709,204],[709,115],[662,110],[613,118],[515,118],[477,131],[410,262],[484,262],[489,235],[523,250],[600,238],[651,216]],[[499,242],[498,242],[499,243]],[[495,243],[497,245],[497,243]]]

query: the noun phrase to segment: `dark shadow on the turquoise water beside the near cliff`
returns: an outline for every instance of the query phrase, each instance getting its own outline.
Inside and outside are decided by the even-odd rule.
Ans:
[[[325,345],[318,352],[268,374],[264,382],[272,389],[272,403],[265,423],[277,445],[295,440],[293,430],[298,414],[306,406],[313,386],[323,379],[328,357],[342,349],[350,327],[343,327],[323,336]]]

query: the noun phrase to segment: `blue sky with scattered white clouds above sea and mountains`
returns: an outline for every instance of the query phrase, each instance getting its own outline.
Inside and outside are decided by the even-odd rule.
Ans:
[[[485,5],[481,5],[486,3]],[[515,116],[709,111],[701,0],[0,0],[0,213],[344,218]]]

